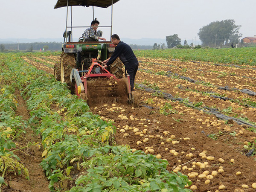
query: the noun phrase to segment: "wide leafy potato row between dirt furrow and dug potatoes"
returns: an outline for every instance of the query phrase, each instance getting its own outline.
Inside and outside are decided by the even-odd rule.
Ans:
[[[41,166],[51,191],[189,191],[183,189],[188,178],[168,172],[166,160],[116,145],[112,122],[93,115],[64,84],[20,56],[0,55],[12,71],[12,76],[3,76],[15,79],[27,100],[29,124],[41,135]]]

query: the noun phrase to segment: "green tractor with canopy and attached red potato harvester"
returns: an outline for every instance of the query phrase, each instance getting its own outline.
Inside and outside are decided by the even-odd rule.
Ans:
[[[119,58],[106,70],[101,68],[100,63],[109,58],[115,50],[115,45],[111,41],[84,41],[82,38],[79,38],[78,41],[73,41],[73,29],[81,28],[82,26],[72,26],[72,6],[96,6],[101,8],[111,6],[111,26],[99,27],[109,27],[112,35],[113,4],[118,1],[58,0],[54,7],[54,9],[67,7],[66,29],[63,35],[64,44],[62,45],[61,61],[54,66],[55,78],[62,83],[67,83],[70,89],[75,90],[79,97],[90,99],[90,103],[99,102],[101,100],[99,98],[109,98],[119,102],[124,100],[123,96],[126,97],[126,101],[132,102],[129,76],[123,78],[123,64]],[[67,26],[69,7],[71,11],[71,26]],[[89,27],[83,26],[83,28]],[[102,32],[98,31],[97,36],[101,37],[101,35]],[[96,83],[97,81],[99,82],[98,84]],[[105,102],[108,102],[108,100]]]

